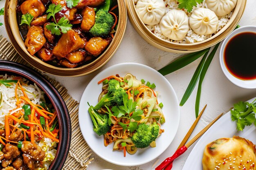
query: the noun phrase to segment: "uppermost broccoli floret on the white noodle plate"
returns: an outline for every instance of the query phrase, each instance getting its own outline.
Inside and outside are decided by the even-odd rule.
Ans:
[[[99,103],[94,106],[94,109],[99,110],[103,106],[110,107],[116,103],[118,106],[123,105],[123,94],[125,93],[124,89],[120,87],[120,82],[115,79],[111,79],[108,82],[108,93],[100,99]]]

